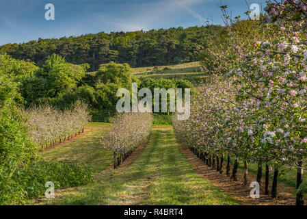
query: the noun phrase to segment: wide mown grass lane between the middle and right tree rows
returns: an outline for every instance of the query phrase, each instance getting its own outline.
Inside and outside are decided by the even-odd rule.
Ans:
[[[92,185],[62,192],[49,204],[239,204],[193,171],[181,154],[172,127],[153,127],[148,145],[131,166],[106,170],[97,179]]]

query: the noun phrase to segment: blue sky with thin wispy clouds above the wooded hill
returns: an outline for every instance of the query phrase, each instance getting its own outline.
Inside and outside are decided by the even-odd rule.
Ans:
[[[55,7],[46,21],[45,5]],[[248,0],[248,5],[265,0]],[[38,38],[61,38],[101,31],[193,27],[206,20],[223,25],[221,0],[0,0],[0,45]],[[247,17],[245,0],[222,0],[233,16]]]

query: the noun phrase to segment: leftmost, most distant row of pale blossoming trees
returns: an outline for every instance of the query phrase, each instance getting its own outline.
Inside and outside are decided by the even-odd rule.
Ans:
[[[46,148],[50,143],[53,146],[59,142],[77,136],[80,131],[84,132],[85,125],[90,120],[87,105],[82,103],[74,105],[71,109],[57,110],[50,105],[38,105],[25,111],[27,114],[27,127],[31,140]]]

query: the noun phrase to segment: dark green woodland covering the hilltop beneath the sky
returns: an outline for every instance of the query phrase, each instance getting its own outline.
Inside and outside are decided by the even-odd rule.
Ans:
[[[223,30],[220,26],[178,27],[39,38],[23,44],[5,44],[0,47],[0,52],[18,60],[31,60],[38,66],[55,53],[72,64],[88,63],[92,71],[109,62],[128,63],[132,67],[161,66],[196,61],[198,47],[206,48],[211,36]]]

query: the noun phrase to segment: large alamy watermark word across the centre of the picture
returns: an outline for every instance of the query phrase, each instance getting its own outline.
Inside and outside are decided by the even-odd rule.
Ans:
[[[155,88],[154,89],[154,112],[178,112],[178,120],[187,120],[190,116],[190,92],[191,89],[185,88],[183,101],[182,88]],[[124,96],[122,96],[124,94]],[[146,96],[144,96],[146,95]],[[161,101],[160,101],[161,95]],[[116,96],[122,98],[116,104],[118,112],[152,112],[152,92],[148,88],[137,90],[137,83],[132,83],[132,105],[130,91],[126,88],[118,89]],[[169,96],[169,105],[168,105]],[[139,97],[143,97],[138,101]],[[161,104],[160,104],[161,103]],[[160,109],[161,105],[161,109]]]

